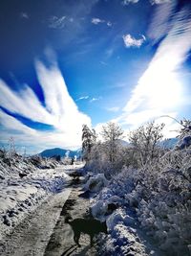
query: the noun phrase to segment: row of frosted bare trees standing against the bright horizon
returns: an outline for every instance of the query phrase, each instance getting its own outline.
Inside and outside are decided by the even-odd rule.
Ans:
[[[82,154],[86,167],[92,171],[116,175],[123,166],[144,168],[159,161],[166,150],[159,144],[163,138],[164,124],[154,122],[129,132],[128,141],[123,141],[124,131],[116,123],[108,123],[97,140],[96,130],[82,128]]]

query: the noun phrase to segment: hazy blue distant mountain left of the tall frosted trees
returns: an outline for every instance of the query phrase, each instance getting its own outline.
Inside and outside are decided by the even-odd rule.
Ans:
[[[38,154],[41,155],[42,157],[53,157],[55,155],[64,157],[68,154],[69,157],[74,157],[76,155],[76,157],[79,158],[79,157],[81,157],[81,149],[76,150],[76,151],[70,151],[70,150],[65,150],[65,149],[60,149],[60,148],[54,148],[54,149],[42,151]]]

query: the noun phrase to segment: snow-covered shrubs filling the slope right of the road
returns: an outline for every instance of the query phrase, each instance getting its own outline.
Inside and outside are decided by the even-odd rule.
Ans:
[[[107,222],[106,255],[129,255],[130,251],[131,255],[189,255],[190,136],[180,139],[179,145],[167,151],[158,165],[144,170],[124,167],[96,191],[91,212]],[[108,211],[110,203],[116,205],[112,211]]]

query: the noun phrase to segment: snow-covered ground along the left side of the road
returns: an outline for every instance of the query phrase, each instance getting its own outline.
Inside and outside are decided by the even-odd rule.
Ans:
[[[20,222],[42,200],[60,192],[65,183],[64,171],[36,170],[24,178],[10,176],[0,182],[0,238]]]

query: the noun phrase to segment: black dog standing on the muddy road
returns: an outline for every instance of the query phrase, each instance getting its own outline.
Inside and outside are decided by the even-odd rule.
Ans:
[[[74,242],[78,246],[81,246],[79,244],[79,238],[81,233],[88,234],[90,236],[91,246],[93,245],[93,239],[96,234],[100,232],[104,232],[105,234],[107,234],[106,221],[100,222],[94,219],[82,219],[82,218],[78,218],[70,221],[71,219],[72,219],[71,217],[67,217],[65,219],[65,222],[69,223],[73,228]]]

